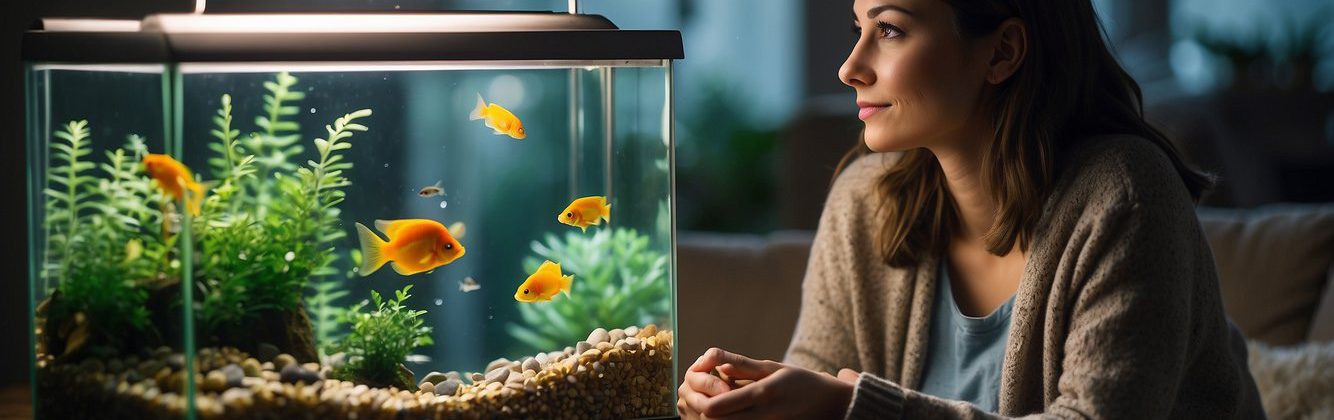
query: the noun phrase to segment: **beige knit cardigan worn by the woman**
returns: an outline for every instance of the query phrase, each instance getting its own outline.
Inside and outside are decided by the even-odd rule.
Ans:
[[[875,252],[874,184],[892,156],[862,157],[835,181],[786,363],[863,372],[850,419],[996,416],[914,391],[938,260],[900,269]],[[999,415],[1263,419],[1213,255],[1166,155],[1145,139],[1101,136],[1059,161],[1015,296]]]

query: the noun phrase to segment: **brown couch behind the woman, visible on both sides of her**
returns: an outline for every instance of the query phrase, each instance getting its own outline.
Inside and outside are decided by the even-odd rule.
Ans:
[[[1334,280],[1334,204],[1202,208],[1197,213],[1218,264],[1223,305],[1253,341],[1253,369],[1270,369],[1255,372],[1266,403],[1291,400],[1286,393],[1266,395],[1279,388],[1266,381],[1282,380],[1278,372],[1298,369],[1295,363],[1323,367],[1307,372],[1323,375],[1314,379],[1318,383],[1334,380],[1334,359],[1307,357],[1334,355],[1334,287],[1329,287]],[[710,347],[783,359],[800,309],[812,237],[811,231],[679,235],[676,321],[682,375]],[[1291,355],[1294,348],[1298,356]],[[1305,413],[1311,415],[1311,409]]]

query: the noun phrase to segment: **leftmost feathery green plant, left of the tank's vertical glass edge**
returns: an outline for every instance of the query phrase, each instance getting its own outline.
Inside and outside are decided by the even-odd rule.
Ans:
[[[43,276],[61,279],[60,299],[48,312],[56,327],[81,331],[67,333],[68,353],[89,335],[117,343],[123,332],[149,329],[143,284],[167,269],[173,241],[141,239],[144,227],[160,219],[149,207],[160,199],[136,164],[145,149],[143,137],[131,135],[125,147],[108,151],[100,165],[105,177],[99,179],[91,175],[97,165],[84,159],[92,153],[88,121],[69,121],[53,136],[64,141],[51,141],[55,159],[47,173],[52,187],[43,191],[48,197],[45,261],[59,263],[44,263]]]

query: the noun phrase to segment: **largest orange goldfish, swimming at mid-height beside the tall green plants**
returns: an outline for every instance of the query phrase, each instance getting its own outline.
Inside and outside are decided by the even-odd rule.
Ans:
[[[428,219],[376,220],[375,228],[384,232],[388,241],[358,223],[356,233],[362,241],[363,277],[392,261],[394,272],[411,276],[428,272],[436,267],[454,263],[463,256],[463,244],[439,221]]]

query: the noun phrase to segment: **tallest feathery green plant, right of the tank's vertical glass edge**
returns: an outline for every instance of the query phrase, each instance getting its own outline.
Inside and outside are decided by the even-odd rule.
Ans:
[[[291,91],[295,83],[296,77],[279,73],[276,81],[264,84],[269,91],[264,96],[267,115],[256,117],[263,132],[252,135],[251,141],[243,144],[240,131],[232,127],[228,95],[223,95],[213,117],[217,141],[209,144],[216,153],[209,167],[221,184],[213,188],[201,223],[196,223],[204,257],[199,277],[205,331],[237,325],[259,315],[256,311],[297,309],[312,277],[336,272],[332,243],[347,235],[336,227],[338,204],[344,196],[342,188],[351,184],[343,172],[352,167],[339,152],[351,148],[347,140],[354,132],[367,131],[355,120],[371,111],[360,109],[325,125],[328,139],[313,140],[319,161],[297,168],[287,160],[301,147],[289,141],[296,135],[284,133],[299,125],[281,120],[295,115],[295,107],[283,101],[301,99],[300,92]],[[296,176],[284,176],[283,171]],[[272,173],[267,183],[264,173]]]

